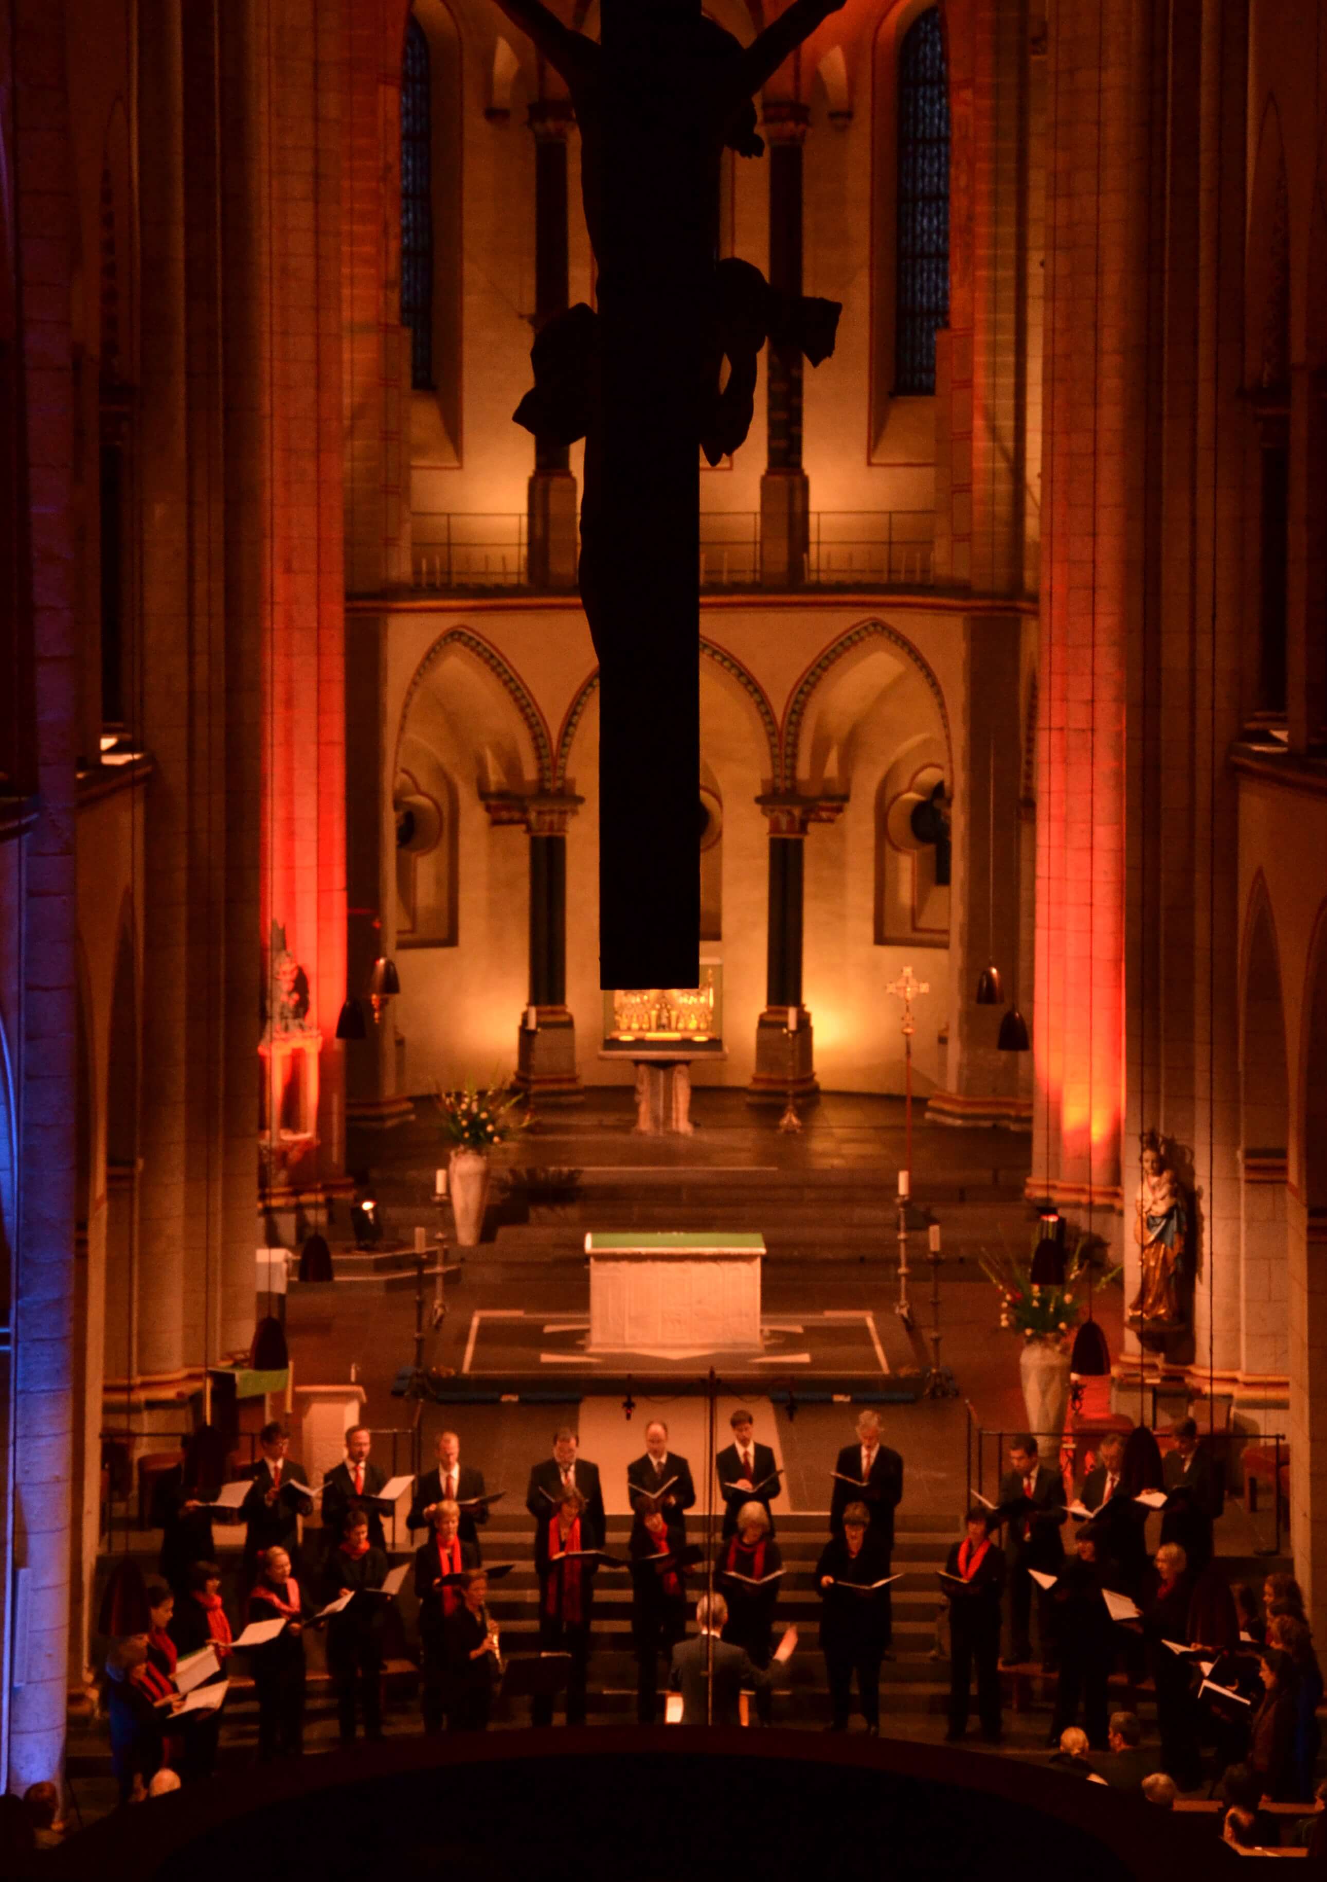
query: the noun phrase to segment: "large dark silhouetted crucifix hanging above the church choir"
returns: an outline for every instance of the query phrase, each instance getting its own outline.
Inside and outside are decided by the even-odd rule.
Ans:
[[[570,92],[599,267],[599,314],[574,307],[536,339],[518,418],[585,437],[600,984],[695,986],[698,446],[717,463],[745,439],[766,337],[819,363],[838,322],[836,303],[785,301],[747,263],[719,263],[719,160],[762,151],[753,94],[843,0],[792,0],[745,49],[700,0],[602,0],[599,43],[540,0],[497,4]]]

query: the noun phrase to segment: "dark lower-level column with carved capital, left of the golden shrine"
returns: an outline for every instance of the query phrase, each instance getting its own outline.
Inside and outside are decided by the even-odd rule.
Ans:
[[[495,822],[520,821],[531,843],[531,977],[516,1045],[516,1082],[533,1099],[563,1105],[584,1097],[576,1073],[576,1020],[567,1009],[567,824],[580,804],[582,798],[572,796],[533,796],[518,815],[504,815],[497,800],[488,804]]]

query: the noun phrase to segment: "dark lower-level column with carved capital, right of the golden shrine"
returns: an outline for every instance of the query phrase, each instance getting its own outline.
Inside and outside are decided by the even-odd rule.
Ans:
[[[779,794],[757,798],[770,819],[770,901],[764,977],[764,1013],[755,1031],[755,1073],[747,1086],[751,1103],[783,1103],[789,1080],[800,1097],[815,1097],[815,1037],[811,1014],[802,1005],[802,881],[806,834],[813,822],[832,822],[841,804]],[[796,1013],[796,1037],[789,1043],[789,1009]]]

